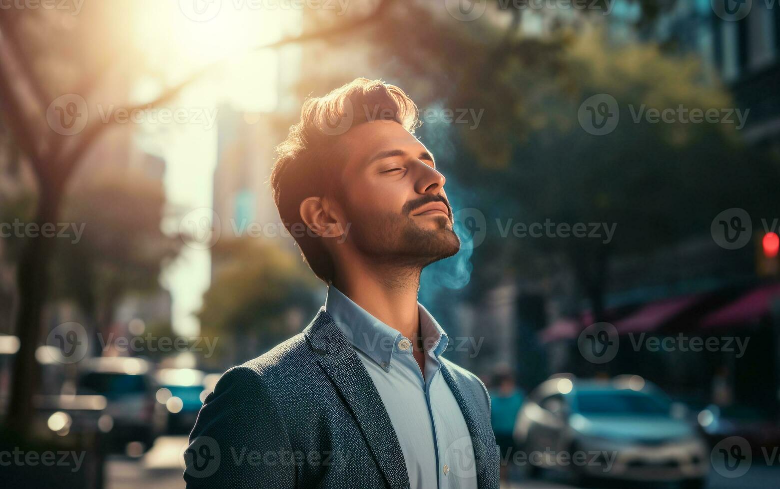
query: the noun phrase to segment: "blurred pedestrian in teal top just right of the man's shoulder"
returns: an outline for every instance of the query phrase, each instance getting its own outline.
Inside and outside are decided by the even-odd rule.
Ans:
[[[495,433],[495,440],[501,449],[502,462],[512,458],[515,431],[515,420],[520,407],[523,406],[525,394],[520,390],[515,378],[509,371],[499,371],[491,382],[491,424]],[[507,481],[508,467],[501,464],[501,480]]]

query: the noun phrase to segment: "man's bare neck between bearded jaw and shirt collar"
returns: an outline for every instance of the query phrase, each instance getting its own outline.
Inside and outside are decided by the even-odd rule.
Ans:
[[[417,291],[420,289],[420,269],[388,264],[367,264],[352,261],[340,266],[333,285],[355,304],[365,309],[403,336],[420,336],[420,311]]]

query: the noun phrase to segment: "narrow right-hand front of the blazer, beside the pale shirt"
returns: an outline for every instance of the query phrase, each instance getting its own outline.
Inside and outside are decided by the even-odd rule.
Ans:
[[[452,377],[452,372],[449,371],[445,362],[441,362],[441,375],[444,376],[447,385],[449,385],[449,389],[452,391],[452,395],[455,396],[456,401],[458,401],[460,412],[463,413],[463,419],[466,420],[466,427],[469,428],[471,443],[474,450],[474,461],[477,465],[477,487],[480,489],[493,487],[498,489],[498,478],[495,477],[498,474],[494,474],[494,471],[490,470],[490,466],[486,465],[491,463],[491,452],[495,449],[495,444],[490,442],[490,440],[494,438],[491,433],[488,433],[488,427],[480,422],[480,417],[477,417],[476,413],[474,413],[474,406],[477,406],[477,399],[463,396],[463,392],[459,388],[458,382]]]

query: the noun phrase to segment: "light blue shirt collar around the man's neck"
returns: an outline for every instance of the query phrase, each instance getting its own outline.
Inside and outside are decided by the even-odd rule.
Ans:
[[[423,304],[418,302],[417,308],[420,312],[423,347],[428,354],[439,357],[449,343],[447,333],[423,307]],[[366,354],[382,368],[388,368],[393,352],[398,348],[399,341],[403,339],[401,332],[374,318],[371,313],[355,304],[333,285],[328,286],[325,311],[328,311],[353,347]]]

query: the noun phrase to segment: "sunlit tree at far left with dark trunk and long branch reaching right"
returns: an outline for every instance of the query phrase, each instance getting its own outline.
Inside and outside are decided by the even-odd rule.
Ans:
[[[391,3],[381,0],[368,15],[349,16],[257,49],[332,40],[370,25]],[[136,4],[129,0],[87,2],[78,16],[61,9],[5,9],[0,16],[0,108],[13,142],[34,171],[34,223],[39,226],[58,222],[70,179],[85,154],[115,123],[115,118],[108,122],[94,118],[80,131],[72,130],[90,108],[100,103],[125,107],[129,112],[156,107],[220,65],[207,65],[184,76],[175,86],[162,90],[159,97],[142,104],[116,100],[115,93],[106,99],[117,83],[129,86],[146,66],[145,54],[133,49],[127,19],[132,9],[154,6],[151,2]],[[54,252],[53,241],[40,235],[27,240],[20,252],[15,322],[21,345],[13,365],[9,424],[23,433],[30,427],[38,378],[34,352],[41,335],[41,310],[49,293],[48,269]]]

